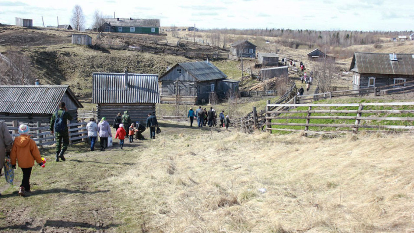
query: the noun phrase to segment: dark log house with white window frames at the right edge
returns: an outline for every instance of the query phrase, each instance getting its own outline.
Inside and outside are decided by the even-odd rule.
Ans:
[[[414,80],[414,54],[354,53],[353,89],[399,85]],[[405,84],[404,84],[405,85]]]

